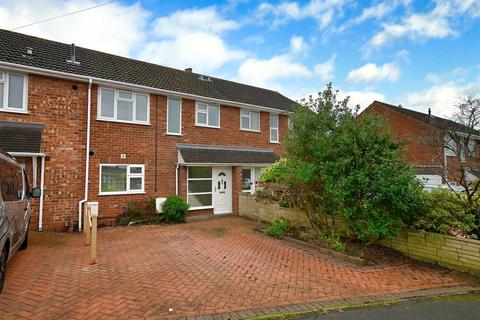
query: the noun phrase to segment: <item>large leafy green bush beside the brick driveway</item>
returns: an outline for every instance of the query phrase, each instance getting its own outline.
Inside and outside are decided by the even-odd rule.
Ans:
[[[348,98],[328,85],[297,107],[286,139],[287,159],[262,176],[303,209],[317,229],[343,217],[361,240],[394,237],[422,206],[420,184],[380,118],[356,118]],[[264,192],[268,193],[268,187]]]

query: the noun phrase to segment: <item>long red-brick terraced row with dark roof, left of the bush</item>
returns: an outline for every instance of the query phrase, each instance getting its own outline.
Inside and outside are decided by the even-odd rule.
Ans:
[[[0,42],[0,148],[44,190],[32,228],[78,228],[85,201],[113,225],[129,201],[173,194],[191,215],[236,213],[282,154],[294,102],[276,91],[6,30]]]

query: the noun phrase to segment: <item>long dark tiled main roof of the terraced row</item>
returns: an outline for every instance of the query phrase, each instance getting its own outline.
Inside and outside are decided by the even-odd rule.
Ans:
[[[0,61],[75,75],[125,82],[207,98],[291,111],[294,101],[272,90],[76,47],[79,65],[67,63],[71,46],[0,29]],[[32,48],[32,56],[26,55]],[[192,53],[194,54],[194,53]]]

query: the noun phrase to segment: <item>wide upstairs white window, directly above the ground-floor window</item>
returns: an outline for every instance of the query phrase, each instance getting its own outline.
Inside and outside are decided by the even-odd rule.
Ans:
[[[100,88],[97,119],[149,124],[150,97],[145,93]]]

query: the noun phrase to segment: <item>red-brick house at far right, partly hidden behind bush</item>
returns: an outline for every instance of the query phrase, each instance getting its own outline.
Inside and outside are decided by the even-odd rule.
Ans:
[[[426,189],[447,187],[448,181],[451,187],[460,190],[461,187],[456,183],[459,158],[462,165],[478,166],[476,149],[480,133],[472,133],[471,129],[453,120],[434,116],[430,109],[422,113],[374,101],[359,116],[365,114],[377,114],[384,118],[394,136],[406,143],[406,160]],[[464,135],[465,138],[468,136],[469,141],[457,146],[449,132]],[[460,157],[457,157],[457,151]],[[477,162],[474,164],[472,160]],[[472,169],[467,179],[478,179],[478,173]]]

